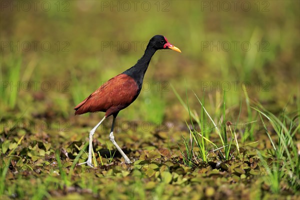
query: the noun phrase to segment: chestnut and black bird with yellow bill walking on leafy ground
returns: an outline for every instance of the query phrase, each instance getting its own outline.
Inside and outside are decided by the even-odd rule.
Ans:
[[[74,107],[75,115],[87,112],[105,112],[105,115],[100,122],[98,122],[89,131],[88,158],[85,162],[79,163],[79,165],[87,164],[90,167],[94,166],[91,159],[92,137],[97,127],[110,115],[113,116],[113,119],[109,133],[109,140],[123,156],[125,163],[131,163],[130,159],[114,140],[113,127],[115,118],[120,110],[126,108],[137,98],[142,88],[143,77],[148,68],[151,57],[154,55],[155,51],[159,49],[172,49],[181,52],[179,48],[170,44],[167,38],[163,35],[154,35],[149,40],[144,54],[137,60],[136,64],[107,80],[98,89]]]

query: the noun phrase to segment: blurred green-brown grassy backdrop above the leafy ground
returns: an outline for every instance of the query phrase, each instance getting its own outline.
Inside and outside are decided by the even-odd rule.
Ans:
[[[182,53],[155,53],[123,120],[182,123],[188,113],[170,85],[184,99],[187,90],[195,110],[193,92],[215,111],[222,87],[227,107],[239,109],[244,81],[250,99],[274,112],[299,99],[299,1],[1,1],[0,33],[2,119],[71,120],[155,34]]]

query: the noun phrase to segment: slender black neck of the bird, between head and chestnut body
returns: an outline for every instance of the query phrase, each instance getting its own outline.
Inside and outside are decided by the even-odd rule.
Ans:
[[[150,44],[148,44],[145,53],[143,54],[143,56],[141,56],[139,60],[137,60],[136,64],[134,64],[131,68],[123,72],[123,74],[129,75],[135,80],[138,86],[138,90],[141,89],[144,74],[155,51],[156,49],[153,48]]]

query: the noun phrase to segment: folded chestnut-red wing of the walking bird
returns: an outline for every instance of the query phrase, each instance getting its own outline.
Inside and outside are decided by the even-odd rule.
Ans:
[[[127,107],[137,93],[137,84],[126,74],[119,74],[85,98],[74,109],[75,114],[83,114],[86,112],[111,111],[123,109]]]

